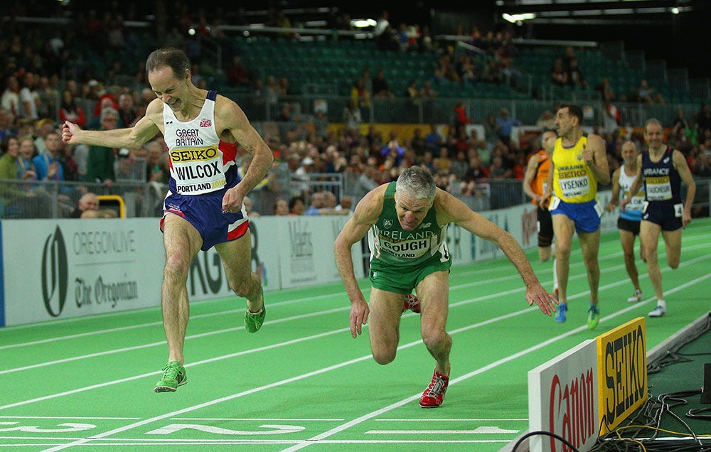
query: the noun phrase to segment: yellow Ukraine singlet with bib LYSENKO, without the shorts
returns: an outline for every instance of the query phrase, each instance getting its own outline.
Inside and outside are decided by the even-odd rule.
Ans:
[[[555,140],[553,150],[553,190],[566,203],[587,203],[597,196],[597,179],[582,158],[587,136],[581,136],[574,146],[564,147],[562,138]]]

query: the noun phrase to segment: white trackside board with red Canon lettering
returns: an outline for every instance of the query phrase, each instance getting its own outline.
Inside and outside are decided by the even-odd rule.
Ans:
[[[597,341],[589,339],[528,372],[529,431],[548,431],[589,451],[599,434]],[[547,435],[531,436],[531,452],[570,450]]]

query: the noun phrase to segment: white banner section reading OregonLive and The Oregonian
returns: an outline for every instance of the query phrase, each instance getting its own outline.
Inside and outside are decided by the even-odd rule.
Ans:
[[[2,222],[5,323],[160,305],[154,218]]]

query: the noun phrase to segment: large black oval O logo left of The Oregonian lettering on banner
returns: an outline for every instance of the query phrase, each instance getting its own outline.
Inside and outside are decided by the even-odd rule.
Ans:
[[[57,317],[62,313],[67,301],[69,281],[67,247],[59,226],[45,240],[41,274],[45,308],[50,316]]]

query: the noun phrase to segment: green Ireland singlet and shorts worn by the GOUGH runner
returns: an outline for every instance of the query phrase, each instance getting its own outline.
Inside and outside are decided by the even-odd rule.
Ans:
[[[395,184],[387,186],[383,211],[368,231],[370,282],[377,289],[410,294],[428,274],[451,267],[447,225],[437,225],[432,207],[417,229],[402,229],[395,212]]]

